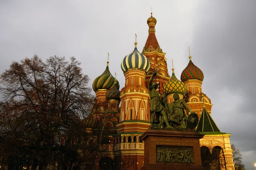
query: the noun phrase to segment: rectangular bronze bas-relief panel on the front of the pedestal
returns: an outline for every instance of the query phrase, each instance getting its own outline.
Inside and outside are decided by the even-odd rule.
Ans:
[[[193,147],[157,145],[157,162],[195,163]]]

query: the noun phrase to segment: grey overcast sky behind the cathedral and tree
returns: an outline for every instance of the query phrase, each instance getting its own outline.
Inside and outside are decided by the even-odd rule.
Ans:
[[[93,80],[103,73],[108,52],[120,89],[122,59],[141,52],[150,12],[156,36],[175,75],[192,61],[204,72],[202,91],[212,118],[241,150],[246,170],[256,162],[256,0],[0,0],[0,72],[12,61],[37,54],[75,56]]]

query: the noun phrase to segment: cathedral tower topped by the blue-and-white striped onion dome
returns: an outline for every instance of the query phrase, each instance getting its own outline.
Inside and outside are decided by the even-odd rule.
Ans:
[[[117,125],[117,133],[144,133],[150,126],[149,95],[145,87],[149,61],[137,50],[137,42],[134,44],[134,51],[125,56],[121,63],[125,87],[120,94],[120,123]]]

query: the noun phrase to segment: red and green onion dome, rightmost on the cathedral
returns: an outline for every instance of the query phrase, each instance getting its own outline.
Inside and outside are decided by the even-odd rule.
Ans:
[[[189,56],[189,64],[182,71],[180,79],[182,82],[185,82],[189,79],[198,79],[201,81],[204,80],[203,72],[200,70],[200,68],[194,65],[194,63],[191,60],[191,56]]]

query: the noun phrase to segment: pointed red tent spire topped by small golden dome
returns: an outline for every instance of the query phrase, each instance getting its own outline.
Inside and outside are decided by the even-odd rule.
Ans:
[[[157,50],[160,53],[163,53],[162,49],[160,48],[160,45],[158,44],[157,37],[156,37],[156,30],[155,26],[157,23],[157,20],[152,16],[151,12],[151,17],[148,18],[147,20],[148,23],[148,39],[145,43],[145,46],[143,48],[143,51],[154,51]]]

